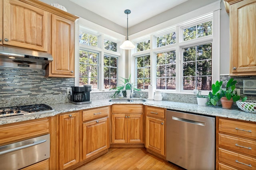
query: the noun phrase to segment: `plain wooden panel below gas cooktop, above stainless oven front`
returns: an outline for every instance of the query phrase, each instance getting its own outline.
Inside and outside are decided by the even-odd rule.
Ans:
[[[32,136],[49,133],[49,121],[32,121],[0,128],[0,144],[20,141]]]

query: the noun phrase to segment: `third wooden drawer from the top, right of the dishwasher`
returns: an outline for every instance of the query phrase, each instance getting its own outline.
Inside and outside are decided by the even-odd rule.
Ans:
[[[243,170],[255,170],[256,159],[219,148],[219,160]]]

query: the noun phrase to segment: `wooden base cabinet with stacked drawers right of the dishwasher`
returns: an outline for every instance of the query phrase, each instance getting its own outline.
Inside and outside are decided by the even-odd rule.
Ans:
[[[217,117],[219,170],[256,169],[256,123]]]

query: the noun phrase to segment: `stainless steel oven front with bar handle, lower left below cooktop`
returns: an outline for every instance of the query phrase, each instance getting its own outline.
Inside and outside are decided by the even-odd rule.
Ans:
[[[50,157],[50,135],[0,147],[0,169],[17,170]]]

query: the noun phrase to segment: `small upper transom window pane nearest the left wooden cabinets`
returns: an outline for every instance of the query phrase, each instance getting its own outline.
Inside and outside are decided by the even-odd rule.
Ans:
[[[79,43],[98,47],[98,36],[79,31]]]

